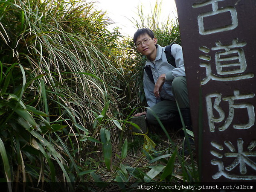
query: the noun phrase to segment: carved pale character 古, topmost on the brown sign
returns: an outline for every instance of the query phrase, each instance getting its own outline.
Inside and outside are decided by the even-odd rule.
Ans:
[[[195,3],[192,6],[193,8],[198,8],[198,7],[203,7],[210,4],[212,5],[211,12],[201,13],[200,15],[198,15],[198,27],[199,27],[199,33],[201,35],[209,35],[216,32],[224,32],[224,31],[235,29],[238,26],[236,9],[234,7],[218,8],[218,1],[224,1],[224,0],[207,0],[204,3]],[[230,16],[231,16],[230,24],[219,26],[215,29],[205,29],[204,18],[212,16],[213,17],[212,19],[214,19],[215,15],[219,15],[227,12],[230,13]]]

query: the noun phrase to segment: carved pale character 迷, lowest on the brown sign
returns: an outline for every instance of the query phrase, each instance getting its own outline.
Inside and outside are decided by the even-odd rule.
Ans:
[[[225,141],[224,145],[226,145],[229,152],[224,153],[223,155],[219,151],[223,151],[224,147],[215,141],[211,142],[211,145],[214,148],[219,150],[219,151],[212,150],[211,154],[213,156],[217,157],[218,159],[223,159],[224,157],[235,158],[233,162],[226,167],[224,167],[224,163],[222,160],[212,160],[211,161],[212,165],[218,166],[218,172],[212,176],[213,179],[218,179],[221,176],[224,176],[231,180],[256,179],[256,175],[246,175],[247,173],[246,165],[256,170],[256,163],[250,159],[250,157],[256,157],[256,151],[255,151],[256,141],[253,140],[250,142],[250,144],[247,147],[247,151],[244,150],[243,144],[244,144],[244,141],[241,138],[239,138],[237,140],[237,150],[236,150],[235,146],[230,141]],[[232,175],[228,173],[233,169],[235,169],[237,166],[239,166],[239,172],[241,175]]]

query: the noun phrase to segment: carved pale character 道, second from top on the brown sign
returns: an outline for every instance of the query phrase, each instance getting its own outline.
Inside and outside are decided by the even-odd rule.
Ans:
[[[209,63],[201,63],[200,67],[205,67],[206,78],[201,81],[201,84],[207,84],[211,79],[215,81],[238,81],[241,79],[253,78],[253,73],[244,73],[247,68],[247,63],[244,55],[244,50],[241,47],[246,45],[245,42],[240,42],[234,39],[232,44],[223,45],[217,41],[216,46],[212,50],[218,50],[215,53],[215,67],[217,74],[212,73],[212,68]],[[209,53],[207,47],[199,47],[204,53]],[[199,58],[204,61],[210,61],[209,55],[200,55]]]

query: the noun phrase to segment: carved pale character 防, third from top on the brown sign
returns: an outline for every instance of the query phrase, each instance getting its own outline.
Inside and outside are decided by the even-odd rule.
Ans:
[[[239,90],[234,90],[234,96],[223,97],[222,101],[227,101],[229,104],[229,111],[228,116],[222,126],[218,128],[219,131],[225,131],[233,122],[233,118],[235,115],[235,109],[245,108],[247,109],[247,116],[248,122],[247,124],[234,124],[233,128],[235,129],[248,129],[254,125],[255,122],[255,113],[254,113],[254,106],[250,103],[242,102],[240,104],[235,104],[235,100],[242,100],[242,99],[249,99],[255,96],[254,93],[247,94],[247,95],[240,95]],[[212,106],[212,99],[214,99],[214,104]],[[219,123],[224,121],[225,113],[220,107],[221,102],[221,93],[211,93],[206,96],[206,104],[207,104],[207,115],[208,115],[208,123],[209,123],[209,130],[211,132],[215,131],[215,123]],[[213,114],[213,109],[218,113],[219,117],[215,117]],[[244,114],[245,116],[245,114]]]

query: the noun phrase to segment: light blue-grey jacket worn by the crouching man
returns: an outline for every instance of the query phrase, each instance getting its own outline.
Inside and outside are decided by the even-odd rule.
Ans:
[[[151,61],[147,59],[145,66],[149,65],[152,70],[152,74],[154,77],[154,82],[157,82],[157,79],[160,75],[166,74],[166,80],[163,84],[162,90],[160,91],[160,96],[162,99],[173,99],[172,93],[172,80],[177,76],[186,76],[184,61],[183,61],[183,53],[182,47],[178,44],[173,44],[171,47],[172,56],[175,58],[176,67],[173,67],[168,63],[166,58],[165,47],[161,47],[157,44],[157,56],[155,61]],[[150,81],[147,73],[144,70],[143,76],[143,84],[144,84],[144,92],[145,97],[149,107],[152,107],[160,99],[157,99],[154,96],[154,83]]]

